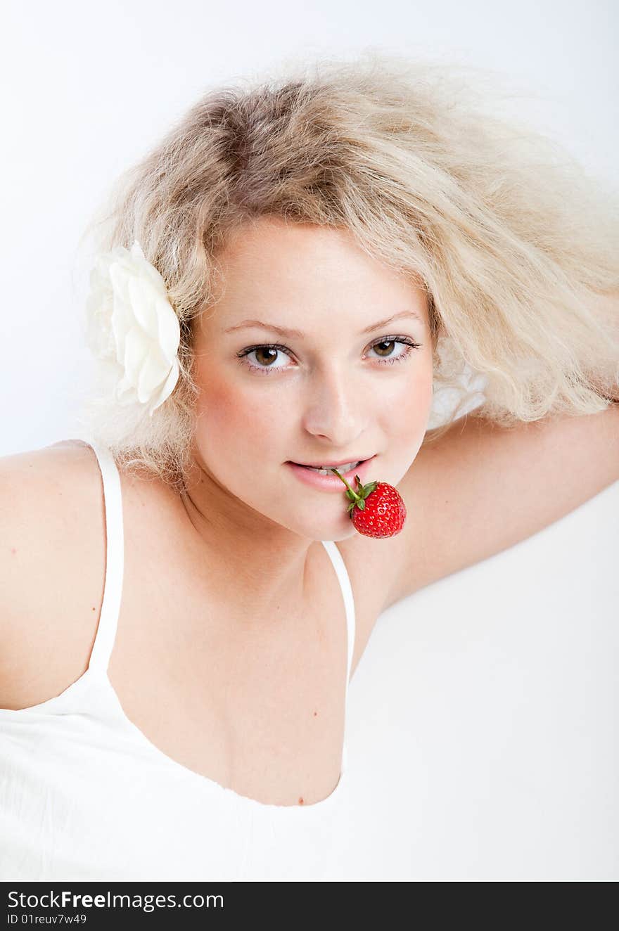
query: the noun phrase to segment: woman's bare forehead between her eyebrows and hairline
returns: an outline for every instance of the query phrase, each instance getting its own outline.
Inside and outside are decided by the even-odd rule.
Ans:
[[[370,323],[405,308],[427,319],[423,287],[370,256],[346,229],[260,217],[229,236],[217,264],[214,303],[226,324],[317,312]]]

